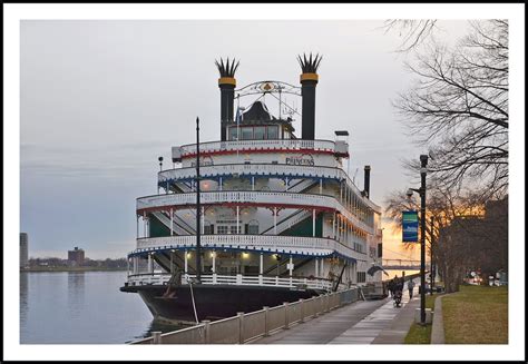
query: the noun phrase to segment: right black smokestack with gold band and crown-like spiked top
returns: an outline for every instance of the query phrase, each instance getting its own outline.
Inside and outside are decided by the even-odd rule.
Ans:
[[[301,85],[302,85],[302,97],[303,97],[303,139],[313,140],[315,139],[315,86],[319,81],[317,68],[321,59],[321,56],[315,55],[312,57],[306,57],[303,55],[297,56],[299,63],[303,73],[301,75]]]

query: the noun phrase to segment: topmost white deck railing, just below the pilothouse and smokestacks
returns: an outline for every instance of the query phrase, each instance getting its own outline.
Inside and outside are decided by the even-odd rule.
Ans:
[[[199,144],[199,153],[215,151],[248,151],[263,149],[304,150],[335,153],[335,142],[331,140],[276,139],[276,140],[239,140],[239,141],[208,141]],[[180,147],[182,157],[196,154],[196,144]]]

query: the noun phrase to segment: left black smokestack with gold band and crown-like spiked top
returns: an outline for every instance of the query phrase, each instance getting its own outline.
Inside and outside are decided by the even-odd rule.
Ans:
[[[218,78],[218,87],[221,89],[221,140],[225,141],[226,138],[226,127],[229,122],[233,122],[233,108],[235,101],[235,87],[236,79],[235,72],[238,68],[238,63],[235,65],[235,59],[229,63],[229,58],[224,63],[224,60],[221,58],[219,62],[215,61],[216,67],[221,78]]]

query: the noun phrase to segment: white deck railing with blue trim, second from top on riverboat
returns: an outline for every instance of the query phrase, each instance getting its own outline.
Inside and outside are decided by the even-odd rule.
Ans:
[[[239,164],[239,165],[215,165],[199,167],[201,178],[216,176],[233,175],[252,175],[252,176],[291,176],[292,178],[332,178],[336,180],[346,180],[349,188],[353,190],[355,196],[374,211],[380,213],[380,206],[375,205],[368,198],[363,198],[360,189],[353,184],[352,179],[341,168],[333,167],[312,167],[312,166],[290,166],[290,165],[272,165],[272,164]],[[158,174],[158,181],[178,179],[195,179],[196,168],[178,168],[167,169]]]

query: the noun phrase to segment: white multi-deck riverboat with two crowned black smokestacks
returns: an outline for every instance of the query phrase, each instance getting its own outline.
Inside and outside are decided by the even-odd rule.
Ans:
[[[137,246],[120,291],[139,294],[156,318],[197,323],[381,282],[371,269],[382,230],[370,166],[359,189],[343,168],[349,132],[315,139],[321,57],[297,60],[301,87],[238,89],[238,62],[217,61],[219,140],[172,147],[173,168],[159,158],[158,194],[137,198]],[[300,98],[302,112],[287,98]]]

